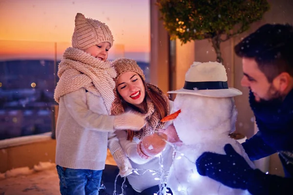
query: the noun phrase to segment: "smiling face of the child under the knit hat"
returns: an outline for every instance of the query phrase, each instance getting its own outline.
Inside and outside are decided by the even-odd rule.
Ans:
[[[102,42],[97,45],[90,46],[84,52],[90,54],[91,56],[105,61],[108,58],[108,51],[110,49],[110,43]]]

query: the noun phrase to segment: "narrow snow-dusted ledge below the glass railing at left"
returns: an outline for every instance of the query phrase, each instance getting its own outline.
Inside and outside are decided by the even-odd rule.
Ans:
[[[19,145],[33,143],[33,142],[50,140],[52,139],[51,135],[52,135],[52,132],[48,132],[48,133],[34,135],[34,136],[23,136],[23,137],[0,140],[0,149],[12,147],[12,146],[19,146]]]

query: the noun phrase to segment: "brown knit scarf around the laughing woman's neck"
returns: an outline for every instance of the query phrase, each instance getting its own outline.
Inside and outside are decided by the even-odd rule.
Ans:
[[[158,94],[160,94],[161,97],[165,99],[166,106],[167,106],[167,113],[169,113],[169,100],[168,98],[164,95],[164,93],[156,86],[152,84],[147,84],[147,89],[150,91],[157,91]],[[116,93],[115,93],[116,94]],[[162,104],[165,104],[165,102],[162,102]],[[146,126],[143,127],[140,131],[131,131],[134,135],[134,137],[137,137],[139,139],[142,139],[143,137],[146,137],[148,135],[153,134],[155,131],[161,129],[164,127],[164,123],[161,122],[161,117],[157,110],[155,109],[155,105],[151,101],[149,97],[146,97],[146,113],[139,113],[142,115],[147,123]],[[111,114],[112,115],[119,115],[124,113],[125,110],[123,108],[123,105],[121,103],[121,100],[119,99],[118,95],[115,95],[115,100],[113,101],[112,108],[111,108]],[[127,130],[130,131],[130,130]]]

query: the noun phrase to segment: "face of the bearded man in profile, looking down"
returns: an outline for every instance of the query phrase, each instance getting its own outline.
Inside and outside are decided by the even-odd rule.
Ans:
[[[280,93],[274,87],[273,82],[268,81],[254,59],[243,58],[242,68],[244,76],[241,79],[241,85],[248,87],[253,92],[255,101],[280,98]]]

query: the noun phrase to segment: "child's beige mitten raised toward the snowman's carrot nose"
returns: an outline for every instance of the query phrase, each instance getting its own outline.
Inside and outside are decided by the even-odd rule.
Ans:
[[[146,125],[144,117],[138,113],[126,112],[122,115],[116,115],[114,118],[115,130],[139,131]]]

